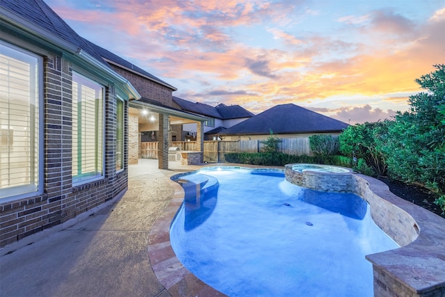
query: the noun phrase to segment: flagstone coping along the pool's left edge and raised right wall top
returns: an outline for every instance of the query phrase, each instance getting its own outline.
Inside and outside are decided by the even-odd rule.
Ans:
[[[278,169],[245,164],[233,167]],[[173,175],[177,175],[177,172],[169,177]],[[373,264],[375,296],[392,296],[401,293],[405,294],[404,296],[427,296],[427,294],[433,296],[430,295],[433,292],[442,294],[434,296],[443,296],[445,294],[445,219],[399,198],[378,179],[355,173],[351,173],[351,176],[369,189],[371,193],[367,195],[372,196],[369,199],[389,202],[396,209],[406,212],[414,219],[419,230],[417,238],[406,246],[366,255],[366,259]],[[226,296],[202,282],[177,259],[170,245],[170,225],[183,204],[185,193],[183,188],[171,179],[170,186],[175,191],[172,200],[156,220],[149,234],[148,255],[156,278],[172,296]],[[371,215],[373,215],[372,205]],[[375,223],[378,224],[378,222]]]

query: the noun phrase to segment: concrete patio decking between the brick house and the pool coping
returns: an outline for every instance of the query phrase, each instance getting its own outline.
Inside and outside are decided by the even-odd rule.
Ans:
[[[85,220],[0,249],[0,296],[171,296],[149,261],[149,234],[175,194],[170,175],[200,166],[157,166],[129,166],[127,193]]]

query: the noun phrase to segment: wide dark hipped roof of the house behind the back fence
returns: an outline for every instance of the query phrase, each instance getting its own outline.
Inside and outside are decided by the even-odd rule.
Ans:
[[[348,124],[295,104],[274,106],[221,132],[221,135],[303,134],[339,132]]]

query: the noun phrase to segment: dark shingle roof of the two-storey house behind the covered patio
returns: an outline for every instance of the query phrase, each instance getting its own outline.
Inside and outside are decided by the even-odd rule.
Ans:
[[[214,107],[200,102],[193,103],[175,96],[173,96],[173,101],[175,101],[184,111],[206,115],[208,117],[218,118],[220,120],[250,118],[254,115],[239,105],[227,106],[225,104],[218,104],[218,106]]]

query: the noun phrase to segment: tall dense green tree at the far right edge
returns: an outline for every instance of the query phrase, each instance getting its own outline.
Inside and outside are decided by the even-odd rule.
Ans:
[[[445,65],[434,67],[416,79],[426,91],[410,96],[410,111],[396,115],[381,150],[389,175],[440,193],[445,211]]]

